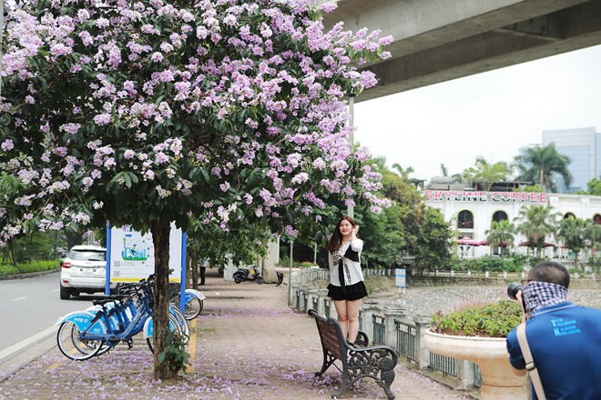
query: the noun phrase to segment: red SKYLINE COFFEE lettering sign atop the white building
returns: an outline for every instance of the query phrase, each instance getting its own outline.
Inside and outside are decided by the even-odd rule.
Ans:
[[[464,190],[426,190],[426,201],[483,202],[483,203],[535,203],[546,204],[546,193],[527,192],[476,192]]]

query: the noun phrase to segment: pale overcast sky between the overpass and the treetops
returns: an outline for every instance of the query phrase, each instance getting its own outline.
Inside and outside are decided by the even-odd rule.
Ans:
[[[355,104],[355,141],[429,180],[510,162],[543,131],[601,132],[601,45]]]

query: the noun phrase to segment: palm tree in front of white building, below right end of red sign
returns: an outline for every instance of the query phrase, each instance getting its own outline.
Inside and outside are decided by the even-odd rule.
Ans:
[[[531,205],[522,207],[516,220],[517,232],[524,234],[529,242],[536,247],[536,256],[540,257],[543,246],[545,245],[545,236],[555,234],[557,227],[558,213],[553,213],[551,205]]]

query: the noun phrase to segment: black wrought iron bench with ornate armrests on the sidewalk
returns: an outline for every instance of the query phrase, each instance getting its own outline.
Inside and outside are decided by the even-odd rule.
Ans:
[[[331,394],[337,398],[344,394],[351,385],[362,377],[369,376],[382,386],[386,396],[393,399],[391,391],[394,380],[394,366],[398,362],[398,355],[387,345],[368,346],[368,338],[363,332],[359,332],[354,345],[349,345],[345,337],[342,337],[341,325],[333,318],[325,318],[315,310],[309,310],[308,314],[315,318],[317,330],[320,334],[321,348],[323,349],[323,365],[321,371],[315,376],[321,376],[334,365],[342,373],[342,385],[337,392]],[[334,364],[340,360],[342,369]]]

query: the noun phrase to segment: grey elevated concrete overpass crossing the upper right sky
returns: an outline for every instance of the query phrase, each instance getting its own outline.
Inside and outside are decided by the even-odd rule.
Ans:
[[[326,25],[393,35],[356,101],[601,44],[601,0],[330,0]]]

